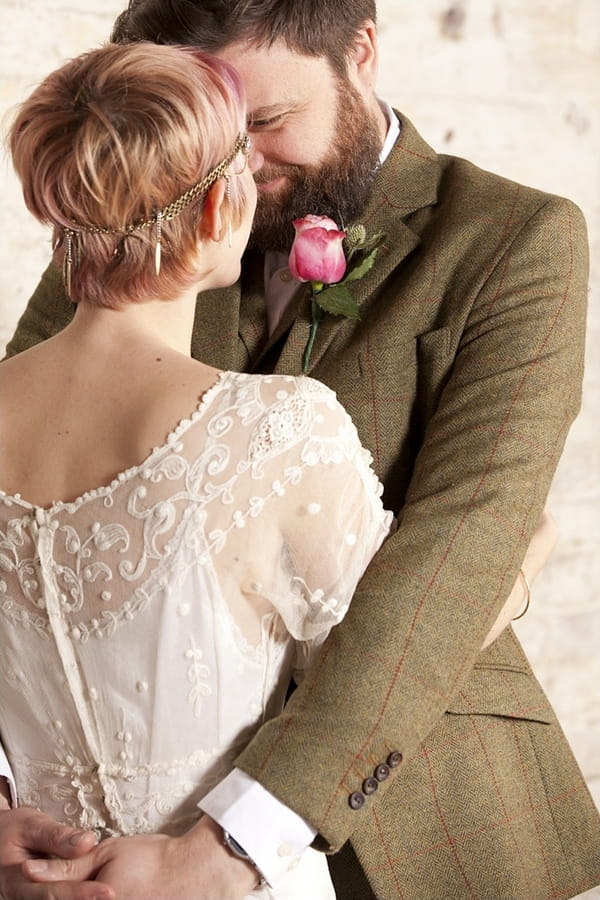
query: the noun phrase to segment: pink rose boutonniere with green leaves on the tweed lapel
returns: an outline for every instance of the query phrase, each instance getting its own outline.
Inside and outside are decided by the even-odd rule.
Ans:
[[[376,234],[367,240],[363,225],[341,231],[327,216],[304,216],[292,224],[296,235],[290,252],[290,272],[296,281],[310,282],[312,291],[312,322],[302,358],[302,371],[306,372],[325,313],[360,319],[358,305],[347,285],[366,275],[385,235]]]

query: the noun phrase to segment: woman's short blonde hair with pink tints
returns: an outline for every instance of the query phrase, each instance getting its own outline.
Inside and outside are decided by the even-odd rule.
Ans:
[[[222,60],[190,47],[107,44],[49,75],[19,108],[9,146],[28,209],[54,228],[119,228],[150,218],[232,150],[245,130],[239,77]],[[235,168],[235,163],[232,168]],[[231,179],[238,224],[245,198]],[[127,237],[81,232],[71,298],[116,307],[170,296],[198,278],[203,198],[162,227],[160,275],[155,229]]]

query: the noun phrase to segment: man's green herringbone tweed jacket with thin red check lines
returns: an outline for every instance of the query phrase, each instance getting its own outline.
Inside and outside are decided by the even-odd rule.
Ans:
[[[438,156],[406,119],[362,221],[386,240],[353,287],[361,320],[321,323],[310,374],[351,413],[400,524],[238,764],[337,851],[341,900],[572,897],[600,883],[598,813],[512,629],[478,648],[579,409],[585,225]],[[262,274],[249,253],[241,284],[199,296],[194,355],[300,373],[308,293],[268,339]],[[50,268],[9,352],[69,316]]]

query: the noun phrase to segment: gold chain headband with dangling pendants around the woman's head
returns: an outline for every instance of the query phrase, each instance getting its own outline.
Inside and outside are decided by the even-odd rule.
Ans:
[[[194,200],[197,200],[198,197],[201,197],[205,194],[213,184],[219,180],[219,178],[227,177],[227,169],[236,158],[238,153],[243,153],[246,159],[250,155],[250,137],[248,134],[240,134],[237,137],[235,144],[233,145],[233,149],[231,153],[229,153],[225,159],[222,159],[220,163],[211,169],[207,175],[204,176],[202,181],[199,181],[197,184],[194,184],[191,188],[188,188],[183,194],[177,197],[176,200],[173,200],[172,203],[169,203],[168,206],[165,206],[163,209],[157,210],[153,216],[150,216],[149,219],[142,219],[139,222],[132,222],[129,225],[124,225],[122,228],[109,228],[105,225],[82,225],[80,222],[73,222],[74,228],[70,228],[65,226],[63,229],[65,235],[65,257],[63,264],[63,277],[65,282],[65,287],[67,289],[67,295],[71,294],[71,269],[73,266],[73,239],[77,236],[78,232],[85,231],[88,234],[132,234],[134,231],[142,231],[146,228],[152,228],[154,225],[156,227],[156,245],[154,251],[154,266],[156,269],[156,274],[158,275],[160,272],[160,256],[161,256],[161,236],[162,236],[162,223],[164,220],[169,221],[170,219],[174,219],[181,212],[183,212],[186,207],[193,203]],[[237,173],[241,174],[241,173]]]

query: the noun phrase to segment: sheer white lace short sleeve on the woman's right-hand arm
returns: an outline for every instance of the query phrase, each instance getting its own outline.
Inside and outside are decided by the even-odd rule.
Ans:
[[[328,388],[303,381],[316,396],[307,434],[286,454],[282,579],[269,597],[299,642],[299,668],[345,615],[393,518],[349,415]]]

